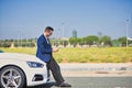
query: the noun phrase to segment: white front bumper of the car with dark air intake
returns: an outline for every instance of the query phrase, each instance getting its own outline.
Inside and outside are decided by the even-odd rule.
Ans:
[[[26,72],[26,85],[36,86],[46,84],[47,81],[47,69],[46,66],[43,68],[29,68]]]

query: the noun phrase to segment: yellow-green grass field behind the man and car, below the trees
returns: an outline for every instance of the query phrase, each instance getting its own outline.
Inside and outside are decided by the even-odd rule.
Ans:
[[[36,48],[0,48],[4,52],[35,55]],[[59,63],[132,63],[132,47],[61,48],[54,53]]]

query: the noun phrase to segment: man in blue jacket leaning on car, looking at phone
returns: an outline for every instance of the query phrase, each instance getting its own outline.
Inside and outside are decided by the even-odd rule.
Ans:
[[[58,64],[53,58],[52,53],[58,52],[58,48],[52,48],[48,37],[53,34],[54,29],[47,26],[37,40],[37,52],[36,56],[47,64],[47,69],[53,74],[54,79],[57,82],[58,87],[72,87],[69,84],[66,84]]]

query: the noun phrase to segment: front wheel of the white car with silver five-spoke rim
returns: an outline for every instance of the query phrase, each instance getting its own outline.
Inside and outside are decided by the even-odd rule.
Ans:
[[[0,72],[1,88],[23,88],[25,86],[25,75],[15,66],[7,66]]]

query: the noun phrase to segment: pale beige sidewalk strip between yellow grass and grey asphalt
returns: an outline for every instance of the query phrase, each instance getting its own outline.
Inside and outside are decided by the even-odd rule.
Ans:
[[[64,77],[132,77],[132,64],[59,64]]]

